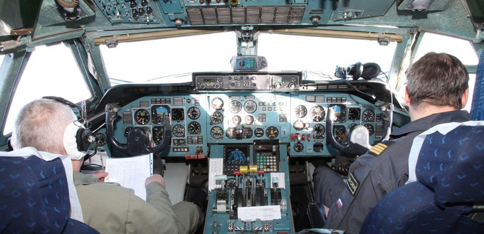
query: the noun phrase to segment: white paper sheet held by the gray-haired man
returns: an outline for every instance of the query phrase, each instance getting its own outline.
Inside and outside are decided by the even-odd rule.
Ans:
[[[114,182],[125,188],[132,188],[135,194],[146,201],[144,181],[153,175],[153,154],[106,160],[108,173],[105,182]]]

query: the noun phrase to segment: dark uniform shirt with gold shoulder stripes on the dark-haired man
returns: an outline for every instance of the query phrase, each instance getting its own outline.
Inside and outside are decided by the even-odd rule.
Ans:
[[[330,207],[325,228],[359,233],[364,218],[386,193],[409,179],[409,152],[414,137],[446,122],[470,120],[467,111],[433,114],[409,122],[384,141],[359,156],[349,167],[347,186]]]

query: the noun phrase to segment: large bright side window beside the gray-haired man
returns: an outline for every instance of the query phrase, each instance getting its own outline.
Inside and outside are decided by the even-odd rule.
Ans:
[[[0,58],[3,60],[3,57]],[[11,101],[4,135],[12,131],[16,115],[23,105],[44,96],[63,97],[71,102],[91,97],[73,53],[62,43],[38,46],[32,52]]]

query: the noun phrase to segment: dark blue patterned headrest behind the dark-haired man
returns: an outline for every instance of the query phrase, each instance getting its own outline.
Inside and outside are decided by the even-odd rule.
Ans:
[[[484,202],[484,126],[459,125],[428,134],[416,163],[416,178],[435,193],[441,208]]]

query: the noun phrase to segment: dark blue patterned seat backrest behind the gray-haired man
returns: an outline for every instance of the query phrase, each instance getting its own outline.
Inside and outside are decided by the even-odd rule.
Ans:
[[[0,233],[98,233],[69,214],[61,159],[0,156]]]

